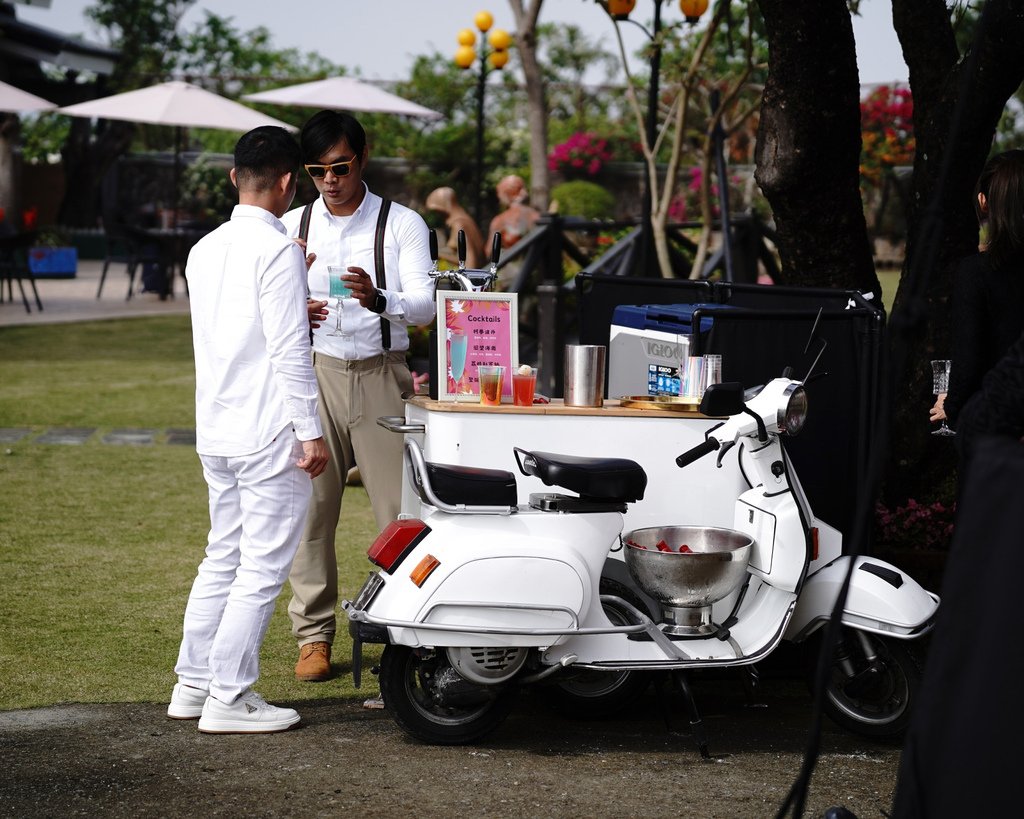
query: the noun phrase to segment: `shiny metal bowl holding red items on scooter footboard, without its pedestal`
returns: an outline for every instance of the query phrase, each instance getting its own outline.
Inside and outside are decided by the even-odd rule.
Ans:
[[[659,552],[658,541],[674,550],[686,544],[693,552]],[[633,579],[670,608],[702,608],[726,597],[742,581],[754,545],[748,534],[713,526],[634,529],[623,542]]]

